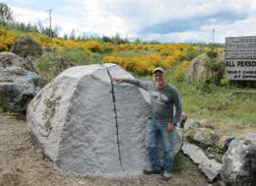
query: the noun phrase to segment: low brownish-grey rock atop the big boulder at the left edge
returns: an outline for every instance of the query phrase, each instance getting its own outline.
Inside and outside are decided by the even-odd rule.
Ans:
[[[0,67],[22,67],[28,71],[36,73],[32,66],[32,61],[20,57],[12,52],[0,52]]]

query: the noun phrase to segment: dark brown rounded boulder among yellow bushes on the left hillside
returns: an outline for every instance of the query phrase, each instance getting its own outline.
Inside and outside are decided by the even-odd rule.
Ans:
[[[21,57],[42,54],[41,46],[30,36],[18,38],[17,41],[12,45],[11,52],[20,55]]]

